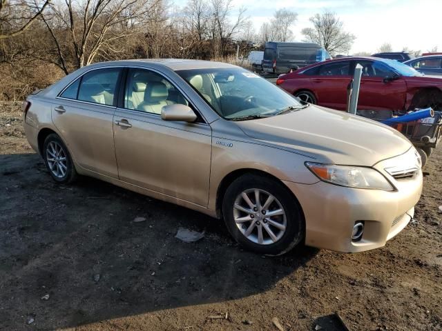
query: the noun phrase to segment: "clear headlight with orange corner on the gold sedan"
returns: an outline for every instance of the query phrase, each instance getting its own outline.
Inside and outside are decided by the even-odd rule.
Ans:
[[[347,188],[369,188],[372,190],[393,191],[394,187],[383,175],[373,168],[352,165],[334,165],[306,162],[305,165],[321,181]]]

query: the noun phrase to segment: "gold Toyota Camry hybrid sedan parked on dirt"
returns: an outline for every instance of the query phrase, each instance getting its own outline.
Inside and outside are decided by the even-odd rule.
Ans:
[[[421,159],[396,130],[227,63],[96,63],[23,103],[52,178],[96,177],[223,218],[245,248],[385,245],[412,219]]]

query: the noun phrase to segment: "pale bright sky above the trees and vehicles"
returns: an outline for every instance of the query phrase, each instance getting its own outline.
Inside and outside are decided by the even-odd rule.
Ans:
[[[175,0],[178,5],[185,0]],[[287,8],[298,13],[291,30],[294,41],[302,41],[302,28],[310,26],[309,17],[325,9],[338,14],[345,30],[356,35],[351,53],[376,52],[382,43],[393,50],[404,47],[427,52],[438,46],[442,52],[442,0],[233,0],[245,6],[256,30],[271,19],[273,12]]]

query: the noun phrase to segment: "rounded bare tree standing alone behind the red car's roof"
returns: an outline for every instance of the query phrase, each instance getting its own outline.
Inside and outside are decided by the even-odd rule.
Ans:
[[[347,53],[354,43],[354,34],[343,30],[343,23],[336,16],[336,13],[326,11],[323,14],[316,14],[310,18],[313,28],[302,29],[305,41],[318,43],[327,52]]]

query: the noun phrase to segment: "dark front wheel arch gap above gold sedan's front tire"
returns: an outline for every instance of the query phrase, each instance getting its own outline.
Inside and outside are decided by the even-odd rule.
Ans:
[[[227,174],[222,179],[220,185],[218,185],[218,190],[217,190],[217,194],[216,194],[216,203],[215,203],[216,215],[218,218],[220,218],[220,219],[222,218],[222,201],[224,200],[224,195],[226,194],[227,188],[229,188],[229,185],[231,185],[231,183],[233,183],[233,181],[240,178],[244,174],[255,174],[257,176],[267,177],[268,179],[271,179],[271,180],[275,181],[276,183],[279,183],[280,185],[282,185],[285,188],[285,190],[287,190],[287,192],[294,199],[295,203],[298,205],[298,208],[300,210],[300,214],[302,216],[302,221],[304,222],[304,228],[305,228],[304,211],[302,210],[302,206],[300,205],[298,198],[296,198],[295,194],[293,192],[291,192],[291,190],[289,190],[289,188],[287,188],[287,185],[285,185],[285,183],[283,183],[280,179],[278,179],[278,177],[273,176],[273,174],[269,174],[269,172],[265,172],[265,171],[253,169],[253,168],[243,168],[243,169],[234,170],[234,171],[230,172],[229,174]]]

